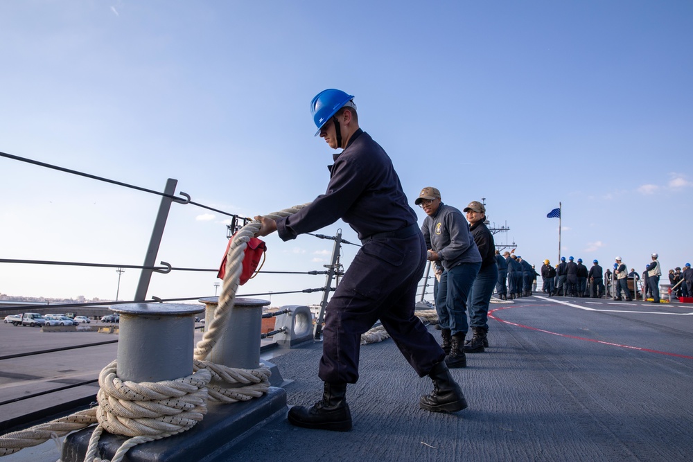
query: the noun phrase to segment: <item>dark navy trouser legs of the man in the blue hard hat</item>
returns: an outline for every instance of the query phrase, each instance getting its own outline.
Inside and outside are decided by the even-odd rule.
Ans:
[[[414,315],[425,266],[421,233],[370,240],[361,247],[326,308],[319,366],[324,382],[356,383],[361,335],[378,319],[419,377],[445,358]]]

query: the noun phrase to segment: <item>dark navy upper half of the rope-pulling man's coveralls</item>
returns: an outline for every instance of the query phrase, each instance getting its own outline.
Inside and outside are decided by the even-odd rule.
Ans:
[[[347,222],[363,240],[416,223],[392,160],[369,134],[358,129],[347,148],[335,155],[326,193],[294,215],[277,220],[282,240]]]

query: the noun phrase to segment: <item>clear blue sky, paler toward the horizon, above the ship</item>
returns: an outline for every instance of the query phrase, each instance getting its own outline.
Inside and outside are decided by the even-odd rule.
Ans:
[[[4,1],[0,151],[254,216],[324,192],[331,151],[309,103],[356,96],[413,201],[486,198],[517,253],[693,260],[689,1]],[[0,157],[2,258],[139,265],[159,199]],[[423,211],[416,208],[420,222]],[[174,204],[159,260],[218,266],[227,217]],[[322,230],[356,242],[349,226]],[[264,269],[310,271],[332,242],[267,239]],[[344,248],[348,263],[356,247]],[[126,270],[121,299],[139,272]],[[155,274],[149,295],[213,295]],[[0,293],[113,299],[114,269],[0,264]],[[323,276],[261,275],[240,293]],[[319,294],[272,296],[315,303]]]

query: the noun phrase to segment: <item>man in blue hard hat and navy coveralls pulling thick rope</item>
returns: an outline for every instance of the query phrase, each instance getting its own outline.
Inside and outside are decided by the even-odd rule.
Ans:
[[[426,241],[392,159],[358,126],[351,94],[321,91],[310,102],[310,114],[317,134],[330,148],[342,149],[333,156],[326,193],[292,215],[255,217],[261,222],[257,236],[277,231],[281,240],[291,240],[341,218],[356,231],[362,247],[326,307],[318,367],[324,382],[322,400],[289,409],[289,423],[311,429],[351,429],[347,384],[359,377],[361,335],[378,319],[416,375],[428,375],[433,381],[433,391],[419,398],[419,407],[437,412],[466,408],[444,350],[414,314],[416,286],[426,266]]]

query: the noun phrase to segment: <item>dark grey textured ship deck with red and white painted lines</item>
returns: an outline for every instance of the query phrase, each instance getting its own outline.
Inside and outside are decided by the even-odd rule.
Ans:
[[[351,432],[279,419],[225,460],[693,461],[693,317],[671,315],[693,307],[605,301],[600,310],[539,296],[491,305],[500,307],[491,346],[453,371],[468,409],[419,409],[432,384],[389,339],[361,347],[360,380],[347,391]],[[289,405],[319,399],[320,354],[307,345],[273,359],[295,380]]]

